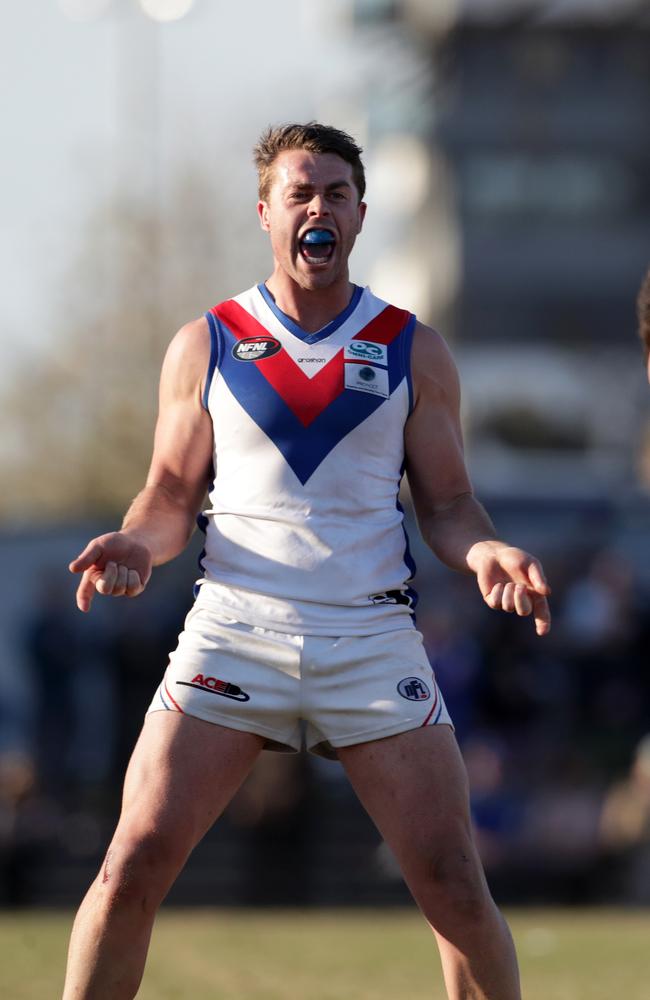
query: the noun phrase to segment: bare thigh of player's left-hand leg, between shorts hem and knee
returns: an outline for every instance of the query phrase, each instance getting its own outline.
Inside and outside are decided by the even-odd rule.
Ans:
[[[177,712],[145,719],[124,782],[118,835],[177,840],[188,851],[226,808],[264,740]]]

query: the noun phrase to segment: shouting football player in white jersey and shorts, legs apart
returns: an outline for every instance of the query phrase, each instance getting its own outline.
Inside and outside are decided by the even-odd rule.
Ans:
[[[361,150],[328,126],[255,149],[265,284],[168,350],[147,483],[70,568],[77,602],[130,597],[185,546],[206,487],[204,576],[146,717],[64,997],[135,996],[154,915],[264,748],[338,757],[436,935],[449,997],[515,1000],[514,948],[472,839],[467,780],[413,624],[398,489],[495,609],[550,627],[532,556],[472,494],[454,364],[434,331],[350,283]],[[214,478],[213,478],[214,475]]]

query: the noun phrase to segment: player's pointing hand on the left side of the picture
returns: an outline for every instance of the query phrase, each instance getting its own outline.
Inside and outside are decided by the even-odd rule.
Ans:
[[[151,576],[151,552],[142,542],[122,531],[100,535],[70,563],[71,573],[81,573],[77,607],[90,611],[95,591],[112,597],[137,597]]]

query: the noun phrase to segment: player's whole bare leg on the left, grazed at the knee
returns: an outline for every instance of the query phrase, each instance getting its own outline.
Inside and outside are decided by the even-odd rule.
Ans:
[[[64,1000],[136,995],[159,904],[263,742],[176,712],[147,716],[117,830],[75,920]]]

